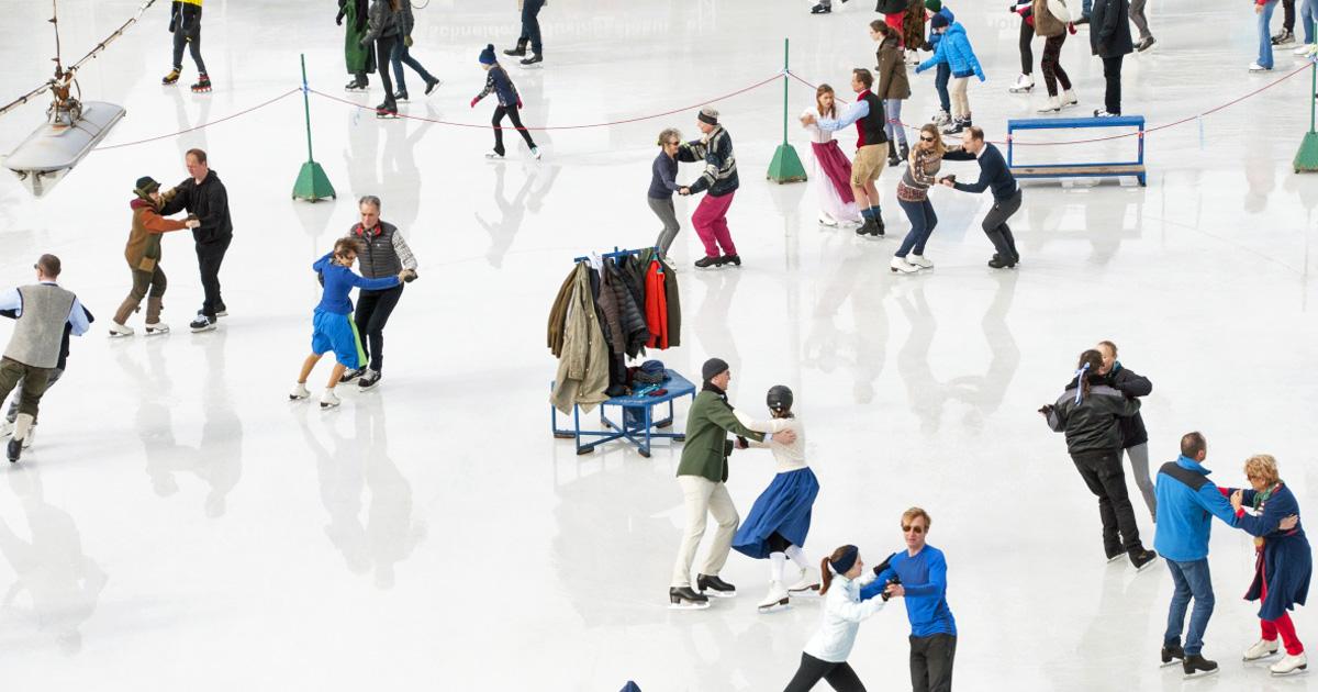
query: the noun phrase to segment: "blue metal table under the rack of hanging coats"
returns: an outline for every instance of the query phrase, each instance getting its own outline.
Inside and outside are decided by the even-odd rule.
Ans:
[[[613,442],[618,439],[625,439],[631,444],[637,446],[641,451],[641,456],[650,456],[650,440],[654,438],[668,438],[673,440],[684,440],[687,435],[684,432],[658,432],[656,428],[666,428],[672,426],[673,422],[673,401],[681,397],[691,397],[692,401],[696,399],[696,385],[691,384],[689,380],[677,374],[676,370],[664,370],[668,377],[663,384],[659,385],[660,389],[667,391],[659,397],[639,395],[639,397],[613,397],[610,399],[600,403],[600,424],[605,426],[606,430],[581,430],[581,407],[572,406],[572,427],[559,428],[559,411],[554,406],[550,406],[550,428],[554,431],[555,438],[572,439],[576,440],[577,453],[585,455],[594,451],[596,447],[606,442]],[[668,405],[668,417],[662,420],[654,419],[652,409],[658,405]],[[609,418],[606,406],[617,406],[621,422],[614,422]],[[629,420],[626,415],[627,409],[637,409],[639,419]],[[583,442],[589,439],[590,442]]]

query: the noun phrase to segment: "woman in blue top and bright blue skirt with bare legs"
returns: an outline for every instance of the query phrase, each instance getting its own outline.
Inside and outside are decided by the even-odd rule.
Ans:
[[[320,294],[320,303],[316,304],[311,318],[311,355],[302,362],[302,372],[298,373],[298,384],[289,393],[290,401],[301,401],[311,395],[307,390],[307,377],[320,362],[320,356],[327,351],[335,355],[335,365],[330,372],[330,381],[324,394],[320,395],[322,409],[339,406],[340,399],[335,394],[335,386],[343,380],[344,370],[355,370],[366,360],[361,351],[361,337],[357,327],[348,318],[352,314],[352,299],[348,297],[352,289],[385,290],[401,285],[413,277],[410,269],[403,269],[394,275],[381,278],[362,278],[352,272],[352,264],[357,261],[357,253],[362,249],[361,241],[351,237],[341,237],[335,241],[333,250],[315,261],[311,269],[320,274],[324,281],[324,290]]]

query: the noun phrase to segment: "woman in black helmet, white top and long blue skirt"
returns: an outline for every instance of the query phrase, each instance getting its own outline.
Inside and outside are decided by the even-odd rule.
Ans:
[[[796,440],[783,444],[772,440],[766,444],[778,461],[778,475],[768,488],[759,494],[750,515],[742,522],[733,538],[738,552],[763,560],[768,558],[768,594],[758,604],[760,610],[787,605],[791,594],[816,592],[818,579],[811,569],[811,563],[801,550],[805,535],[811,531],[811,507],[820,492],[815,472],[805,464],[805,426],[792,415],[792,390],[776,385],[768,390],[768,410],[772,420],[753,420],[737,413],[737,419],[757,432],[782,432],[791,430]],[[796,583],[783,588],[783,571],[787,560],[799,569]]]

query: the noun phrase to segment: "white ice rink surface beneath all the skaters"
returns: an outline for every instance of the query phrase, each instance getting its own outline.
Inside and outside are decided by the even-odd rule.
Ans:
[[[866,24],[876,14],[865,0],[834,4],[832,16],[812,17],[803,1],[554,0],[542,13],[543,69],[510,71],[532,127],[627,120],[741,90],[778,74],[784,37],[793,71],[845,92],[851,67],[874,65]],[[992,140],[1041,100],[1041,86],[1007,94],[1019,20],[1006,4],[949,3],[988,75],[970,100]],[[40,83],[53,53],[49,7],[8,5],[5,100]],[[1159,45],[1127,58],[1127,115],[1170,123],[1300,67],[1285,50],[1273,72],[1248,74],[1253,14],[1218,5],[1151,3]],[[293,90],[299,51],[314,88],[380,100],[374,78],[369,96],[344,95],[333,4],[306,0],[208,0],[214,94],[187,91],[186,58],[181,86],[162,88],[167,7],[157,3],[80,75],[87,99],[128,108],[107,146]],[[59,8],[65,57],[76,59],[136,4]],[[492,101],[468,108],[484,86],[476,58],[486,42],[515,40],[514,3],[431,0],[416,21],[413,54],[444,83],[423,100],[410,74],[403,111],[486,124]],[[1062,54],[1082,112],[1102,100],[1087,36]],[[936,111],[933,78],[911,80],[905,119],[920,123]],[[1104,563],[1094,498],[1035,413],[1060,394],[1077,353],[1111,339],[1155,382],[1144,406],[1155,467],[1176,456],[1182,432],[1201,430],[1219,484],[1244,485],[1243,460],[1269,452],[1301,506],[1318,506],[1318,177],[1290,170],[1307,90],[1309,75],[1297,75],[1151,133],[1147,188],[1027,185],[1012,221],[1023,264],[1012,272],[985,266],[988,195],[938,188],[927,253],[937,269],[916,277],[887,269],[908,228],[895,173],[879,183],[888,239],[820,228],[817,181],[763,179],[782,137],[780,83],[720,101],[741,167],[730,224],[745,266],[691,268],[701,256],[695,200],[679,198],[683,345],[654,356],[692,378],[706,357],[726,359],[733,403],[755,415],[766,414],[768,386],[796,391],[822,485],[812,559],[857,543],[876,563],[900,547],[902,510],[933,515],[931,544],[950,564],[958,689],[1307,689],[1313,674],[1271,679],[1240,663],[1257,638],[1256,608],[1239,598],[1253,550],[1220,523],[1205,655],[1222,672],[1184,683],[1178,668],[1157,667],[1166,567],[1136,575]],[[793,115],[812,101],[811,90],[791,87]],[[0,150],[36,128],[42,108],[0,119]],[[3,687],[613,691],[633,679],[646,692],[780,689],[820,606],[800,600],[758,614],[766,563],[734,554],[722,576],[738,598],[700,613],[666,609],[680,447],[660,443],[652,459],[617,444],[576,456],[548,430],[554,293],[572,257],[652,241],[659,224],[643,195],[654,138],[666,125],[695,136],[695,108],[536,133],[543,161],[518,142],[501,163],[481,158],[488,129],[378,123],[319,96],[311,119],[336,202],[290,200],[306,157],[298,95],[92,153],[42,199],[0,177],[0,283],[29,282],[33,260],[54,252],[63,285],[98,318],[42,402],[36,447],[0,469]],[[805,134],[788,129],[809,163]],[[229,191],[231,316],[215,332],[187,332],[200,286],[183,232],[163,241],[174,333],[111,341],[105,328],[129,287],[133,182],[175,185],[192,146],[210,152]],[[1130,156],[1133,140],[1099,149]],[[1089,156],[1041,156],[1066,154]],[[975,177],[973,163],[944,170]],[[696,171],[684,166],[679,179]],[[377,390],[345,393],[328,413],[290,406],[319,298],[310,264],[356,220],[353,199],[365,194],[384,198],[422,278],[387,328]],[[9,330],[0,326],[5,339]],[[315,391],[327,372],[312,374]],[[771,475],[767,452],[733,456],[729,490],[742,514]],[[1152,544],[1137,497],[1135,506]],[[1318,645],[1314,606],[1294,617],[1301,638]],[[909,684],[907,634],[899,602],[862,626],[851,663],[870,689]]]

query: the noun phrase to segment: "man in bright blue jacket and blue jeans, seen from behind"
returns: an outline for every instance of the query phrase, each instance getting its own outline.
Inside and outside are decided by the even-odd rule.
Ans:
[[[1186,678],[1217,672],[1217,662],[1201,655],[1203,631],[1213,617],[1213,579],[1209,575],[1209,535],[1213,517],[1228,526],[1236,526],[1231,502],[1209,480],[1203,468],[1209,446],[1199,432],[1186,432],[1181,438],[1181,456],[1162,464],[1157,473],[1157,533],[1153,547],[1162,554],[1176,592],[1166,616],[1166,634],[1162,635],[1162,664],[1181,660]],[[1282,522],[1294,526],[1292,517]],[[1185,610],[1194,598],[1190,629],[1181,646]]]

